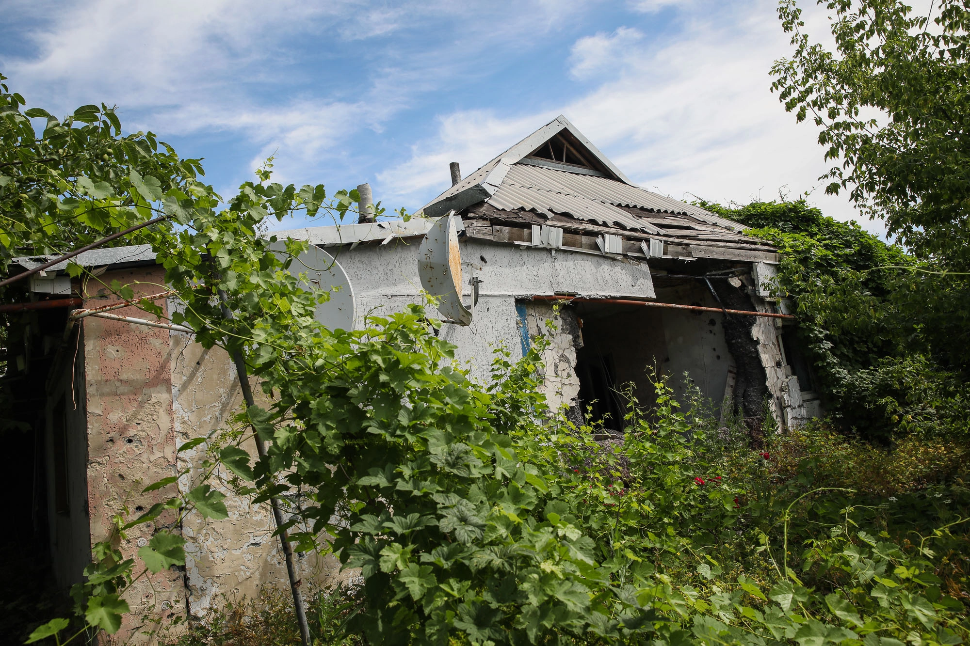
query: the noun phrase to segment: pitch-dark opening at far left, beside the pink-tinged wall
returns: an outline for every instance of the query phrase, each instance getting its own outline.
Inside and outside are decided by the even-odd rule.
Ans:
[[[0,608],[12,643],[23,643],[51,617],[71,614],[66,587],[54,576],[51,550],[51,522],[71,511],[72,432],[65,409],[72,405],[70,392],[65,397],[62,390],[56,404],[51,396],[65,380],[70,382],[76,347],[83,362],[78,331],[64,336],[68,312],[65,302],[64,307],[0,317],[6,341],[0,361],[0,442],[7,456],[0,487],[7,492],[9,527],[0,536],[0,576],[7,582],[0,586]],[[82,383],[77,384],[81,393]]]

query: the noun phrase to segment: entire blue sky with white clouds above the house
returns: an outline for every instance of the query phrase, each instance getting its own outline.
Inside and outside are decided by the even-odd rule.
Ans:
[[[645,188],[738,203],[814,191],[827,214],[857,217],[817,189],[814,125],[769,92],[789,51],[773,0],[0,0],[0,12],[0,72],[28,106],[116,104],[126,128],[205,157],[224,195],[275,154],[277,180],[369,181],[389,210],[413,211],[447,187],[448,162],[468,175],[565,113]]]

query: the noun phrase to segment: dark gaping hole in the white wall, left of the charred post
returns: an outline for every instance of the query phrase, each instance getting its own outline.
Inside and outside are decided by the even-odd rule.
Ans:
[[[658,297],[710,307],[706,288],[691,283],[657,286]],[[570,419],[591,414],[604,428],[622,430],[630,398],[655,403],[654,381],[666,379],[676,399],[717,414],[734,362],[722,331],[722,314],[611,304],[609,299],[562,303],[520,300],[521,326],[529,339],[545,337],[545,381],[553,407]]]

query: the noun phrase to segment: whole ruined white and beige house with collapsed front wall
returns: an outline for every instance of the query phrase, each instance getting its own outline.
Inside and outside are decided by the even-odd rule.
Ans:
[[[745,227],[636,186],[564,116],[468,177],[453,175],[408,221],[365,214],[276,235],[338,259],[361,325],[369,312],[420,302],[420,244],[435,218],[453,211],[473,316],[440,334],[478,379],[494,348],[517,358],[546,334],[543,392],[577,422],[588,411],[602,429],[622,432],[620,387],[633,384],[649,404],[652,370],[669,375],[678,395],[695,387],[720,414],[751,424],[770,413],[791,428],[819,413],[791,317],[772,299],[777,250]],[[45,260],[19,259],[13,271]],[[203,447],[178,446],[220,428],[241,404],[229,358],[204,350],[189,330],[150,316],[146,324],[135,307],[69,322],[72,310],[117,304],[105,288],[113,280],[140,281],[138,296],[160,291],[163,271],[149,248],[93,250],[78,261],[97,279],[72,280],[55,266],[30,280],[31,303],[4,306],[12,316],[3,378],[23,427],[12,449],[32,456],[6,477],[61,586],[81,579],[91,543],[112,533],[114,514],[165,498],[140,493],[147,483],[197,466]],[[159,304],[178,307],[171,297]],[[232,495],[227,504],[226,520],[186,519],[184,571],[137,586],[125,630],[146,612],[202,615],[223,597],[251,597],[261,583],[285,580],[269,507]],[[122,551],[134,554],[150,532],[129,533]],[[302,555],[300,566],[317,581],[338,576],[332,557]]]

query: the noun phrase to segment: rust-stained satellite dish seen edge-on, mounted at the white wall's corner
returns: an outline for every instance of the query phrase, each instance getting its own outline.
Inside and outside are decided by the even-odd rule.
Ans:
[[[469,325],[471,309],[462,303],[462,256],[458,250],[455,211],[438,218],[418,251],[421,286],[438,297],[437,310],[449,323]]]

